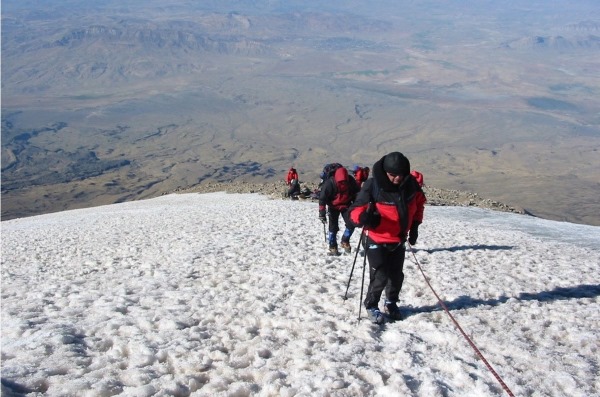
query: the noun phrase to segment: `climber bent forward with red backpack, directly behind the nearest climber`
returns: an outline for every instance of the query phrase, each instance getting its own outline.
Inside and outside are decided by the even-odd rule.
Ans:
[[[356,181],[345,167],[335,171],[333,177],[328,178],[321,186],[319,195],[319,219],[327,224],[326,210],[329,209],[329,255],[339,255],[337,245],[337,232],[339,231],[340,215],[344,220],[346,229],[342,235],[340,246],[346,253],[350,253],[350,237],[354,232],[354,224],[348,218],[348,208],[358,193]]]

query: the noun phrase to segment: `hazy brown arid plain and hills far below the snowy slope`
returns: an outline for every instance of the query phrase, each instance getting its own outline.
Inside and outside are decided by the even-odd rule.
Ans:
[[[398,150],[600,226],[594,1],[93,3],[2,2],[2,220]]]

